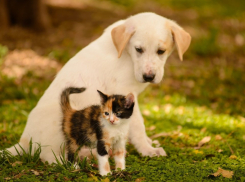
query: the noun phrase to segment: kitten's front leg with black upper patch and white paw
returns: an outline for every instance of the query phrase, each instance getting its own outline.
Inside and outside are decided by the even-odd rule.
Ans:
[[[100,175],[102,176],[107,175],[108,173],[111,173],[110,164],[108,161],[109,146],[107,145],[105,144],[103,140],[99,140],[97,143],[99,171],[100,171]]]

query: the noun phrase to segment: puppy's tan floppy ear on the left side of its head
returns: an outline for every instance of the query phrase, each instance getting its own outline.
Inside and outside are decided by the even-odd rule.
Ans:
[[[123,50],[134,33],[135,29],[133,27],[127,28],[124,24],[112,29],[111,36],[118,52],[118,58],[121,57]]]

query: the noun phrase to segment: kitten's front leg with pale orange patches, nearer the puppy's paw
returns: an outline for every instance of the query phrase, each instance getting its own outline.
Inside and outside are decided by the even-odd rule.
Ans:
[[[125,169],[125,140],[119,140],[113,146],[113,156],[116,163],[116,169],[120,168],[121,170]]]

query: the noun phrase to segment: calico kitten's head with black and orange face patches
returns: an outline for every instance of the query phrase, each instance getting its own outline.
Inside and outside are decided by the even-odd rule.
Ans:
[[[134,95],[105,95],[98,90],[101,98],[102,117],[113,125],[130,118],[134,109]]]

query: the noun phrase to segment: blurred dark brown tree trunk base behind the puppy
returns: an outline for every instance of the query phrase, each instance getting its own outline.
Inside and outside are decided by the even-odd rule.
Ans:
[[[11,25],[49,29],[51,23],[43,0],[0,0],[0,28]]]

